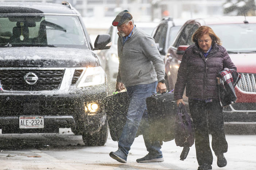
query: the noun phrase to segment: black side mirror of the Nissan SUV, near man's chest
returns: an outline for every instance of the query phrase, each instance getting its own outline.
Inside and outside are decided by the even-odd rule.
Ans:
[[[96,37],[93,50],[109,49],[111,38],[109,34],[100,34]]]

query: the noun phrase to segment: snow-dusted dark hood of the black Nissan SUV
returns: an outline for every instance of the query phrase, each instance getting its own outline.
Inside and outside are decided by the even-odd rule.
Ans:
[[[98,65],[88,49],[59,47],[1,48],[0,67],[87,67]]]

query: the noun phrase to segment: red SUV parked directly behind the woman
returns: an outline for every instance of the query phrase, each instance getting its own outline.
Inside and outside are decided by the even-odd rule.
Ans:
[[[182,55],[193,44],[191,37],[202,25],[211,27],[220,37],[222,45],[242,76],[235,88],[236,103],[224,108],[225,124],[256,124],[256,17],[222,16],[188,20],[165,58],[167,90],[174,89]],[[183,99],[187,101],[185,93]]]

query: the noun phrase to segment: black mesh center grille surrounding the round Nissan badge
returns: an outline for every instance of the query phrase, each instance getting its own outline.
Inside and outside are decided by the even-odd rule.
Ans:
[[[24,76],[29,72],[38,76],[38,81],[33,85],[24,81]],[[63,74],[64,70],[0,70],[0,81],[4,90],[56,90],[61,84]]]

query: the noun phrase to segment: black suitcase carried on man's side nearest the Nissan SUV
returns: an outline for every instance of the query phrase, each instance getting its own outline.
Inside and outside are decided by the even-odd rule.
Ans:
[[[108,119],[110,136],[113,141],[119,141],[126,122],[128,106],[131,98],[127,92],[118,92],[104,98],[104,107]],[[137,131],[136,137],[141,134]]]

